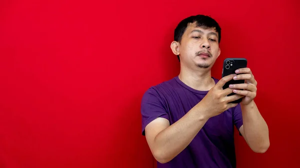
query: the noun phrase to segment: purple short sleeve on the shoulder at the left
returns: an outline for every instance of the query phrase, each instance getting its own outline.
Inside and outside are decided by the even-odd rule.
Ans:
[[[161,99],[161,96],[153,87],[144,93],[141,100],[140,112],[142,135],[145,135],[145,127],[154,119],[162,117],[169,120],[165,101]]]

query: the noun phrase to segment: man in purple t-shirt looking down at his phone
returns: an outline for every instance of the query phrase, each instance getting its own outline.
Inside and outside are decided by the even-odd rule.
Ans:
[[[142,134],[157,168],[235,168],[234,126],[252,151],[269,147],[267,125],[253,101],[257,83],[251,70],[211,77],[220,39],[218,23],[204,15],[185,18],[175,28],[171,49],[180,73],[150,87],[141,102]],[[232,79],[246,82],[222,89]],[[229,103],[239,98],[241,103]]]

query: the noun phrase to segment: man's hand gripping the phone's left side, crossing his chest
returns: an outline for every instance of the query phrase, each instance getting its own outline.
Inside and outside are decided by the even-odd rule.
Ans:
[[[219,115],[222,112],[226,111],[231,107],[235,107],[237,103],[230,103],[234,100],[242,98],[243,96],[234,94],[231,96],[227,96],[233,92],[233,89],[226,88],[223,89],[223,85],[233,79],[235,74],[231,74],[228,76],[224,76],[220,79],[206,94],[206,96],[196,105],[201,108],[205,108],[205,110],[201,110],[204,116],[207,118],[211,118],[213,116]]]

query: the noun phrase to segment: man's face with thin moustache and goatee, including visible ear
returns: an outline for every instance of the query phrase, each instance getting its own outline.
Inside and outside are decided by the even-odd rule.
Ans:
[[[196,27],[190,24],[181,37],[181,42],[172,42],[174,54],[179,55],[183,66],[211,68],[220,54],[218,33],[214,28]]]

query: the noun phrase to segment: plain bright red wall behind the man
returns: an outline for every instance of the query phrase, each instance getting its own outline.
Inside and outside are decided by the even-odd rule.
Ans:
[[[173,29],[199,13],[222,27],[213,75],[245,57],[258,81],[270,148],[236,135],[238,168],[299,168],[299,2],[213,2],[1,0],[0,168],[153,168],[140,99],[178,74]]]

